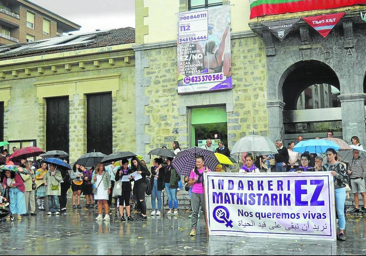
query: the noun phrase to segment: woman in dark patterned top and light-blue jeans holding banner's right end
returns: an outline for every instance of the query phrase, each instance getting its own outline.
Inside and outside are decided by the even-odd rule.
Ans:
[[[340,241],[346,241],[344,237],[344,228],[346,226],[346,219],[344,215],[344,203],[346,202],[346,184],[348,182],[348,176],[346,167],[338,161],[337,153],[333,148],[326,150],[326,157],[328,162],[322,166],[322,171],[332,172],[334,176],[334,190],[336,199],[336,210],[339,219],[339,234],[337,239]]]

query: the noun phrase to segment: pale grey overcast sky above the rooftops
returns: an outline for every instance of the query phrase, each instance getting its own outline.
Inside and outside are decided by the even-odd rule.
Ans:
[[[135,27],[134,0],[30,0],[81,26],[80,33],[96,29]],[[74,32],[77,34],[79,32]]]

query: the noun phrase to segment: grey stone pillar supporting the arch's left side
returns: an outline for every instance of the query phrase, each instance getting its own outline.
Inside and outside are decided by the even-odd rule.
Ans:
[[[284,140],[282,111],[285,103],[279,99],[267,101],[269,139],[275,142],[278,139]]]

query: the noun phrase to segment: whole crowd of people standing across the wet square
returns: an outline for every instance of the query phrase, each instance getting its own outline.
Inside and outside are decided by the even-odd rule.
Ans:
[[[328,137],[333,137],[332,131],[329,131],[327,134]],[[243,154],[243,165],[241,167],[229,167],[219,164],[213,171],[244,174],[331,171],[335,177],[336,212],[340,226],[338,239],[345,240],[346,191],[352,190],[355,196],[355,208],[351,212],[366,213],[365,207],[360,209],[358,198],[358,194],[361,194],[363,205],[365,206],[366,162],[359,156],[360,152],[357,149],[353,150],[353,158],[348,163],[342,162],[339,154],[333,148],[328,148],[323,154],[310,154],[308,152],[299,154],[293,151],[293,149],[295,144],[302,140],[303,137],[298,136],[296,142],[288,143],[288,148],[283,146],[281,140],[277,140],[277,154],[257,157],[253,157],[250,153]],[[359,138],[356,136],[352,137],[351,143],[362,148]],[[215,148],[212,145],[212,140],[208,139],[202,148],[230,157],[229,149],[221,141]],[[181,151],[179,142],[174,141],[172,143],[172,151],[175,154]],[[7,152],[4,152],[4,154],[7,164],[16,164],[10,161],[10,155]],[[55,157],[57,158],[58,156]],[[64,161],[67,162],[66,159]],[[133,221],[134,217],[132,216],[131,209],[131,204],[133,203],[136,205],[136,208],[141,210],[141,215],[138,215],[135,219],[137,221],[146,221],[145,192],[147,187],[151,188],[152,211],[150,215],[158,216],[162,214],[162,192],[164,189],[168,197],[169,207],[165,215],[178,215],[177,192],[183,188],[182,182],[184,182],[184,188],[188,191],[191,199],[192,214],[190,218],[192,230],[190,235],[195,236],[197,221],[201,211],[205,214],[202,176],[204,172],[211,172],[211,170],[205,166],[204,157],[198,156],[195,161],[196,166],[191,170],[189,176],[181,177],[172,166],[172,161],[172,157],[160,156],[154,158],[149,170],[145,161],[133,157],[130,162],[128,159],[123,159],[117,163],[112,162],[107,166],[103,163],[98,163],[91,168],[75,163],[72,170],[65,171],[57,168],[54,164],[48,165],[45,162],[41,162],[36,170],[30,159],[22,159],[19,165],[27,169],[30,174],[18,174],[7,170],[1,176],[3,186],[0,192],[4,195],[4,192],[8,191],[11,213],[17,214],[18,219],[22,219],[22,216],[37,215],[35,198],[37,198],[38,210],[40,211],[46,209],[45,199],[48,198],[48,215],[59,215],[60,212],[66,211],[67,193],[71,188],[72,208],[97,208],[97,221],[109,221],[109,207],[112,205],[117,207],[121,222],[126,222],[126,217],[128,221]],[[133,173],[141,175],[141,178],[135,180],[135,176],[132,176]],[[115,182],[120,182],[122,189],[120,195],[112,196]],[[80,204],[82,193],[86,197],[84,207]],[[115,198],[114,204],[112,204],[113,197]],[[8,206],[4,196],[0,195],[0,199],[0,209]],[[127,215],[125,215],[125,212]],[[7,219],[9,218],[10,215]]]

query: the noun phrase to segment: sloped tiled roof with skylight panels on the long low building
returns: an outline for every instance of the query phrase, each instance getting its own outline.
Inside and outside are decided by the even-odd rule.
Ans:
[[[135,29],[124,27],[67,35],[12,45],[0,46],[0,60],[17,59],[72,50],[98,48],[135,42]]]

